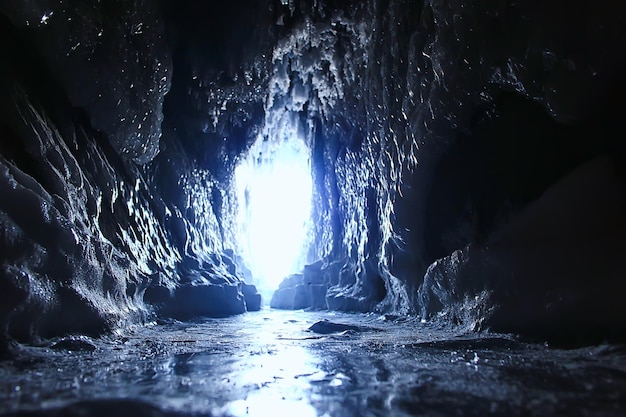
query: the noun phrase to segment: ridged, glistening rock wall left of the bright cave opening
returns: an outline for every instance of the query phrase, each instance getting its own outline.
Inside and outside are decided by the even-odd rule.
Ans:
[[[154,10],[14,3],[0,9],[3,348],[258,309],[228,185],[161,134],[172,62]]]

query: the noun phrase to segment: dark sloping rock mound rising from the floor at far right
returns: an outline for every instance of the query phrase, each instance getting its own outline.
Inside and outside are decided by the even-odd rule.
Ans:
[[[548,189],[499,229],[430,266],[424,318],[531,338],[599,342],[626,326],[626,194],[615,162],[599,157]]]

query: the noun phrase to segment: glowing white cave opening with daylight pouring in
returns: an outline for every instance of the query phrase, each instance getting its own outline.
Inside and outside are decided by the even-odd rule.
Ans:
[[[238,245],[267,295],[306,262],[311,219],[311,152],[298,135],[260,137],[235,168]]]

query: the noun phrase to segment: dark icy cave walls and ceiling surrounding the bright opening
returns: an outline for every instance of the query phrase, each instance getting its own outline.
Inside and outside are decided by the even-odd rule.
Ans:
[[[611,0],[4,0],[3,363],[270,308],[621,346],[624,28]],[[312,194],[302,243],[261,239],[276,288],[235,174],[288,145]]]

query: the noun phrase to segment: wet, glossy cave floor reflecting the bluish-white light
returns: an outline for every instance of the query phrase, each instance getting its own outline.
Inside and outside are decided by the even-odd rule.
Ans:
[[[621,416],[626,346],[265,309],[25,347],[0,362],[0,415]]]

